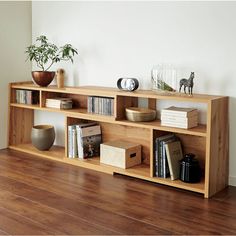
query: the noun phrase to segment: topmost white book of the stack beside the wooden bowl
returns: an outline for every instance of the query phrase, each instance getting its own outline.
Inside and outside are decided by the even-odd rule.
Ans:
[[[161,116],[174,115],[177,117],[191,117],[197,114],[198,114],[198,110],[196,108],[184,108],[184,107],[171,106],[171,107],[164,108],[161,110]]]

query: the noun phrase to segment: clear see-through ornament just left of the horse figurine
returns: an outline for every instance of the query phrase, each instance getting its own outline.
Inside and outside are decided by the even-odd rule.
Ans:
[[[172,65],[159,64],[151,71],[152,89],[158,92],[175,92],[176,69]]]

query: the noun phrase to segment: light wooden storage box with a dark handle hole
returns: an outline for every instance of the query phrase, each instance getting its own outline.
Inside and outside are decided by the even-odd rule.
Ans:
[[[122,140],[103,143],[100,146],[100,162],[120,168],[141,164],[141,145]]]

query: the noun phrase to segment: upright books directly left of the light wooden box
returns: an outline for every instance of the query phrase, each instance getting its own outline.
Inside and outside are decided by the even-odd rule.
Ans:
[[[100,155],[101,127],[96,122],[68,126],[68,157],[85,159]]]

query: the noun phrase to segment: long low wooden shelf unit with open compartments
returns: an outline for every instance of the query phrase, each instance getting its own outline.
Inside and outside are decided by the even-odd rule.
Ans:
[[[16,90],[32,90],[39,93],[39,104],[17,104]],[[9,148],[34,154],[41,158],[69,163],[108,174],[122,174],[176,188],[198,192],[208,198],[228,185],[229,123],[228,97],[194,94],[163,95],[150,90],[135,92],[120,91],[116,88],[84,86],[38,87],[32,82],[11,83],[9,85]],[[46,98],[70,97],[74,106],[70,110],[46,108]],[[114,98],[114,115],[98,115],[87,112],[88,96]],[[156,109],[158,100],[202,103],[207,106],[207,122],[192,129],[161,126],[159,120],[152,122],[130,122],[125,118],[125,108],[138,106],[138,99],[148,99],[148,107]],[[31,128],[34,124],[34,110],[59,112],[65,117],[65,145],[53,146],[49,151],[39,151],[31,144]],[[85,160],[67,157],[67,127],[79,121],[97,121],[101,125],[103,142],[123,139],[142,145],[142,164],[129,169],[121,169],[100,163],[99,157]],[[114,132],[115,130],[115,132]],[[156,137],[173,132],[181,140],[184,152],[197,154],[203,178],[200,183],[189,184],[170,178],[154,177],[153,144]]]

